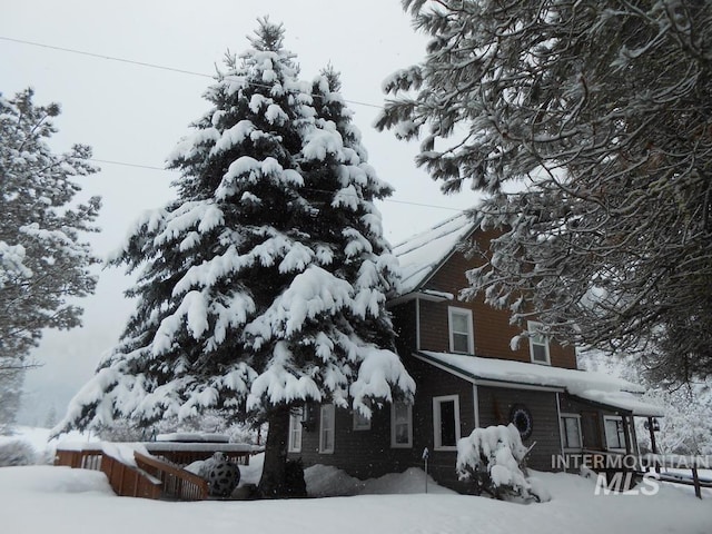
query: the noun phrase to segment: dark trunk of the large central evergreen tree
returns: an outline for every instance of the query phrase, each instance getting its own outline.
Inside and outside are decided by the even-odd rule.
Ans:
[[[278,406],[267,415],[265,465],[259,481],[259,493],[265,498],[288,495],[286,486],[287,438],[289,435],[289,407]]]

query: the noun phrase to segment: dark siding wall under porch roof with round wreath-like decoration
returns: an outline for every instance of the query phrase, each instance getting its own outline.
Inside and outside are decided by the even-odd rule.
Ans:
[[[556,409],[556,393],[477,386],[479,425],[507,425],[515,404],[523,404],[532,413],[532,436],[525,446],[536,442],[530,452],[527,466],[538,471],[552,471],[552,455],[561,454],[561,434]],[[554,464],[555,465],[555,464]]]

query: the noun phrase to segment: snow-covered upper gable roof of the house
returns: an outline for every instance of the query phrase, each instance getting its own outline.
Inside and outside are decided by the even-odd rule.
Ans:
[[[462,212],[394,246],[400,264],[400,294],[419,289],[475,227],[472,217]]]

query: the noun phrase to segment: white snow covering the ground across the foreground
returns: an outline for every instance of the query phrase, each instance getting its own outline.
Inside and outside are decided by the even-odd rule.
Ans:
[[[36,435],[41,433],[34,433]],[[37,436],[36,436],[37,437]],[[419,469],[366,483],[329,467],[308,469],[313,494],[356,494],[291,501],[169,503],[117,497],[103,474],[68,467],[0,468],[2,532],[13,534],[710,533],[712,492],[663,485],[656,495],[594,496],[575,475],[537,473],[552,494],[544,504],[512,504],[456,495],[429,485]],[[259,476],[259,462],[243,472]]]

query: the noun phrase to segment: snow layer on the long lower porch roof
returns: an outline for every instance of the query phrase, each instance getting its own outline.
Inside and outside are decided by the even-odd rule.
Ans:
[[[492,380],[511,386],[561,388],[583,400],[633,415],[663,416],[660,406],[644,403],[635,395],[645,390],[642,386],[604,373],[429,350],[418,352],[415,356],[449,373],[464,375],[474,383]]]

